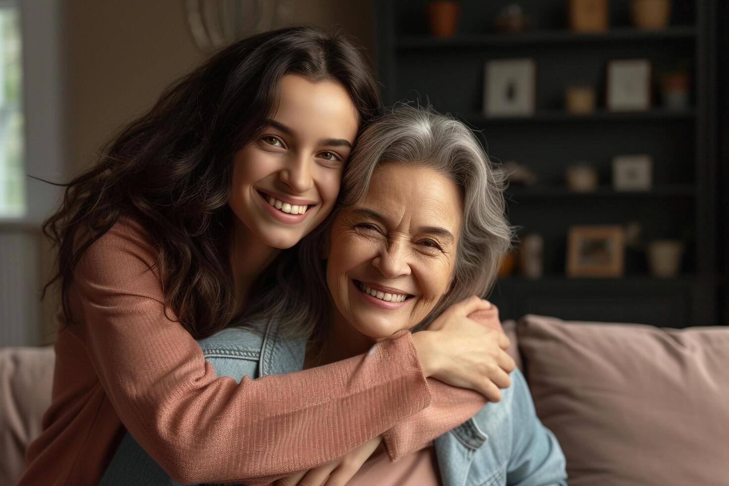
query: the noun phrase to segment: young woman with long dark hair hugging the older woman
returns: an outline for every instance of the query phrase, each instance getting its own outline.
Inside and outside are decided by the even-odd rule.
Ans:
[[[499,398],[461,358],[491,362],[480,350],[499,338],[466,318],[488,307],[481,301],[445,313],[438,332],[398,336],[381,353],[295,377],[217,377],[195,341],[246,312],[262,270],[330,213],[378,104],[364,61],[341,36],[260,34],[166,90],[68,184],[44,224],[58,244],[53,281],[63,297],[52,404],[21,485],[95,484],[126,431],[182,482],[300,471],[427,407],[428,376]],[[332,373],[341,379],[332,383]],[[383,413],[345,407],[355,390]],[[290,454],[332,410],[349,434]],[[276,453],[262,460],[242,448],[216,452],[232,438],[262,450],[270,434]],[[407,450],[412,435],[386,442]]]

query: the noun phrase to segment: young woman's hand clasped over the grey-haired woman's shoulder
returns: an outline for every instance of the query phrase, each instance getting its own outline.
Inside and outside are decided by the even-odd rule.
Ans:
[[[469,297],[448,307],[425,331],[414,333],[424,375],[475,390],[488,401],[501,400],[499,388],[511,385],[508,374],[516,367],[505,351],[509,338],[467,317],[494,308],[484,299]]]

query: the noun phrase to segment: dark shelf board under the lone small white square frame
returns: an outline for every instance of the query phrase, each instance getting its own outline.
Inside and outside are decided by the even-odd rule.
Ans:
[[[507,188],[507,201],[529,199],[582,199],[582,198],[625,198],[625,197],[693,197],[695,189],[691,184],[656,186],[650,191],[616,191],[612,187],[598,187],[593,192],[575,192],[561,186],[537,186]]]

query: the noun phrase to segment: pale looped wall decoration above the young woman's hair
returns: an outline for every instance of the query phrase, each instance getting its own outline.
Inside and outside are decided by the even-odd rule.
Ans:
[[[204,52],[288,22],[293,0],[185,0],[187,25]]]

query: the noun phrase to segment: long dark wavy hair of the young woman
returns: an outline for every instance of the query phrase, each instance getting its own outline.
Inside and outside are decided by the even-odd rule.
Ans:
[[[235,317],[227,205],[233,154],[276,111],[286,74],[340,82],[361,123],[380,106],[378,86],[359,48],[340,31],[290,27],[225,47],[167,87],[159,100],[101,149],[89,171],[67,184],[43,225],[58,247],[61,302],[71,324],[69,288],[87,248],[120,216],[136,219],[158,252],[167,307],[195,338]],[[51,183],[53,184],[53,183]],[[83,230],[83,231],[79,231]]]

